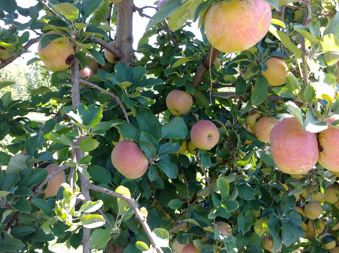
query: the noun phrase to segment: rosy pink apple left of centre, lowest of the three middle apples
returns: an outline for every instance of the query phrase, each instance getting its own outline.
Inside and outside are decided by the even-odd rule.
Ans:
[[[119,142],[112,151],[113,166],[128,179],[140,178],[147,170],[148,160],[139,146],[130,140]]]

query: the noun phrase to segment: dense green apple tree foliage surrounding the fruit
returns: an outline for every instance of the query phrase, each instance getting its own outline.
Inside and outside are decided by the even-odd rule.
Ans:
[[[0,19],[5,28],[0,30],[0,46],[17,56],[29,41],[27,30],[53,30],[64,37],[50,40],[67,40],[79,49],[76,59],[81,68],[88,64],[85,55],[104,65],[93,37],[106,43],[112,39],[117,5],[126,1],[109,5],[106,0],[51,0],[31,8],[15,0],[2,1]],[[318,163],[301,179],[280,172],[269,144],[257,140],[244,126],[244,118],[253,108],[279,120],[293,115],[303,129],[318,133],[328,127],[325,121],[332,114],[339,114],[337,3],[267,1],[279,10],[272,10],[277,19],[265,38],[242,52],[219,52],[221,68],[212,63],[195,83],[199,66],[212,57],[213,48],[204,35],[200,41],[183,28],[199,17],[202,24],[213,2],[167,1],[139,41],[137,50],[144,56],[134,66],[123,59],[99,69],[88,80],[92,85],[80,88],[78,102],[77,61],[72,72],[39,69],[37,58],[29,61],[33,65],[24,73],[14,74],[7,66],[1,70],[0,140],[14,139],[0,151],[0,252],[34,252],[55,237],[57,243],[67,242],[75,249],[85,242],[91,249],[105,249],[110,242],[124,252],[152,252],[156,246],[171,252],[168,243],[174,236],[181,244],[192,241],[201,253],[263,252],[264,234],[271,236],[274,250],[282,243],[282,252],[300,247],[327,252],[322,245],[328,240],[302,239],[300,225],[307,220],[294,207],[317,192],[324,194],[328,185],[338,185],[336,175]],[[40,10],[45,11],[43,17]],[[30,20],[21,24],[18,14]],[[172,30],[166,28],[166,18]],[[203,25],[200,29],[204,34]],[[156,42],[150,45],[154,35]],[[117,40],[118,45],[126,43]],[[271,56],[286,59],[287,84],[269,87],[261,75]],[[31,84],[27,91],[24,79]],[[222,91],[225,87],[227,92]],[[191,113],[174,117],[166,110],[166,95],[176,89],[194,97]],[[33,111],[55,117],[39,125],[26,117]],[[219,127],[218,144],[177,156],[197,120],[213,120]],[[136,141],[149,160],[139,179],[123,177],[112,164],[113,143],[120,135]],[[40,192],[46,183],[44,167],[50,162],[62,165],[68,179],[55,197],[45,200]],[[116,197],[121,186],[125,188],[119,188],[120,198],[132,200]],[[320,201],[320,218],[337,238],[338,205]],[[233,235],[223,234],[214,225],[217,221],[230,224]]]

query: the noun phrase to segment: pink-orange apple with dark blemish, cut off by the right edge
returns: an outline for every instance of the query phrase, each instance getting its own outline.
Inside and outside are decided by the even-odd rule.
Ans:
[[[333,115],[327,122],[332,123],[339,119],[339,115]],[[339,156],[338,156],[338,142],[339,129],[333,126],[328,126],[327,129],[318,133],[318,140],[320,152],[318,162],[324,168],[338,172],[339,171]]]

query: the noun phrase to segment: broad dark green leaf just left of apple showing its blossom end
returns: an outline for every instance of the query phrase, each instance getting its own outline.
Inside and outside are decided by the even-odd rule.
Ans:
[[[161,128],[161,138],[185,139],[188,129],[184,120],[175,117]]]

